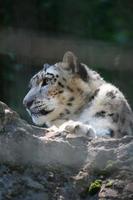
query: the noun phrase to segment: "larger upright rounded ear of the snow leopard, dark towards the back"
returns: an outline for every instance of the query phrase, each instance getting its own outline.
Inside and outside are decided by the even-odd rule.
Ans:
[[[76,73],[80,76],[81,79],[88,81],[88,73],[86,67],[78,61],[74,53],[67,51],[63,56],[63,63],[65,64],[64,68],[66,70],[71,69],[72,73]]]

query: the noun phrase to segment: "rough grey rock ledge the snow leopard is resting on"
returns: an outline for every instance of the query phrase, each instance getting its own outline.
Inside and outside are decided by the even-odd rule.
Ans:
[[[130,200],[132,180],[132,136],[66,137],[0,102],[0,200]]]

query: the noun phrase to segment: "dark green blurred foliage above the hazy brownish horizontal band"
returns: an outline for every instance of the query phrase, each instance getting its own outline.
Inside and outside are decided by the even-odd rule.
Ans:
[[[132,8],[129,0],[4,0],[0,24],[131,44]]]

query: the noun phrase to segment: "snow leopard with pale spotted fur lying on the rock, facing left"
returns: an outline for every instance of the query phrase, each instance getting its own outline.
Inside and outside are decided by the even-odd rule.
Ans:
[[[97,136],[120,137],[133,131],[133,114],[124,95],[72,52],[61,62],[44,64],[31,78],[23,102],[37,125],[67,127],[73,120],[75,127],[77,122],[84,130],[91,126]]]

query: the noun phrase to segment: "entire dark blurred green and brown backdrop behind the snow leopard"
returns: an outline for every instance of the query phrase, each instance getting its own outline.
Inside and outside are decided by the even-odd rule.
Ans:
[[[67,50],[119,87],[133,107],[131,0],[1,0],[0,100],[30,120],[22,105],[29,79]]]

